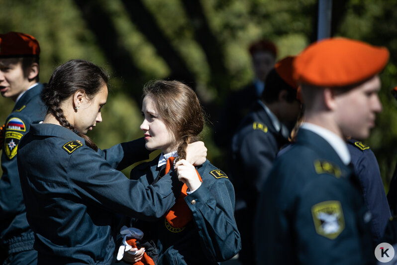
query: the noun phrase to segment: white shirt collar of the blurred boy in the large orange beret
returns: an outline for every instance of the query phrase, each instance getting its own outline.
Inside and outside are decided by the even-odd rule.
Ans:
[[[323,127],[310,123],[303,123],[301,128],[320,135],[332,146],[345,165],[350,163],[351,156],[349,149],[347,148],[346,141],[344,141],[341,137]]]

